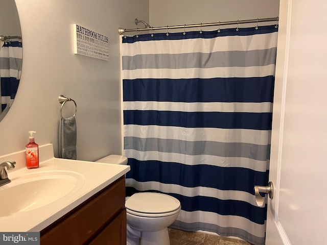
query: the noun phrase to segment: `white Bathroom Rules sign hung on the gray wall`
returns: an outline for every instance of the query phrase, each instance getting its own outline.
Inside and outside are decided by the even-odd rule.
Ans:
[[[74,24],[74,54],[109,60],[108,37]]]

